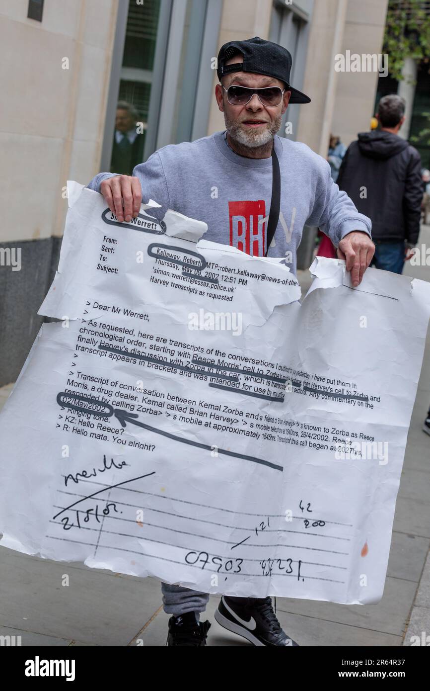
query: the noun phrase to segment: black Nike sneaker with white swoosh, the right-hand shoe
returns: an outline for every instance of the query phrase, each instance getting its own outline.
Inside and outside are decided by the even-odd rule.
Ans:
[[[228,598],[223,595],[215,619],[224,629],[243,636],[253,645],[299,645],[282,631],[271,598]]]

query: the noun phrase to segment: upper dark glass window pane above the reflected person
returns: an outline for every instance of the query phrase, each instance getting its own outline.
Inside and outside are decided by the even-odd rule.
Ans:
[[[153,70],[159,6],[160,0],[145,0],[143,5],[130,2],[123,67]]]

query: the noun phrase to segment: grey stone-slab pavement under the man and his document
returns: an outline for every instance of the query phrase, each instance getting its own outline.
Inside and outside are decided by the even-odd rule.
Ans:
[[[420,243],[430,247],[429,226],[422,227]],[[408,264],[404,273],[430,281],[430,265]],[[311,283],[309,272],[297,274],[306,290]],[[0,408],[11,390],[12,384],[0,388]],[[300,645],[395,647],[422,645],[424,640],[430,645],[430,437],[422,431],[429,403],[430,330],[382,600],[377,605],[338,605],[276,598],[280,623]],[[68,585],[62,585],[66,575]],[[218,600],[211,596],[206,611],[212,623],[208,645],[251,645],[217,624],[213,614]],[[201,618],[204,621],[206,616]],[[21,636],[23,646],[153,647],[165,645],[167,622],[155,578],[88,569],[0,547],[0,636]]]

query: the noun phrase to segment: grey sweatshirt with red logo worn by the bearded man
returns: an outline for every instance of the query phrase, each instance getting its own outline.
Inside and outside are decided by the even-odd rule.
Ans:
[[[333,182],[329,163],[300,142],[275,136],[280,162],[280,221],[268,256],[284,257],[295,273],[297,247],[304,225],[318,226],[337,247],[353,230],[371,236],[371,220],[359,214],[345,192]],[[115,173],[99,173],[88,184],[100,183]],[[143,201],[162,205],[151,211],[159,220],[167,208],[204,220],[204,238],[233,245],[242,252],[262,256],[272,193],[272,158],[245,158],[217,132],[195,142],[169,144],[137,165],[133,176],[141,182]],[[266,219],[266,220],[264,220]]]

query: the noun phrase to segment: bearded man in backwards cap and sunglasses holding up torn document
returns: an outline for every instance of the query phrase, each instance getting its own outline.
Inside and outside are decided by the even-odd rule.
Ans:
[[[338,247],[353,285],[358,285],[373,256],[369,218],[333,184],[322,157],[276,136],[288,104],[310,101],[289,84],[290,71],[289,51],[270,41],[255,37],[225,44],[218,55],[215,97],[226,132],[166,146],[138,165],[132,177],[100,173],[89,187],[104,195],[120,221],[137,214],[143,193],[146,200],[162,204],[159,214],[170,207],[204,220],[208,240],[251,256],[284,257],[293,272],[304,225],[317,225]],[[275,188],[278,178],[280,191]],[[207,596],[163,588],[166,612],[181,615],[183,631],[184,615],[202,612]],[[255,645],[285,645],[270,602],[255,600],[250,607],[248,600],[230,598],[222,607],[219,620],[223,617],[222,623],[233,630],[242,627]],[[241,623],[251,612],[259,623],[257,634]],[[194,632],[193,614],[188,618]],[[174,637],[172,633],[172,645]]]

